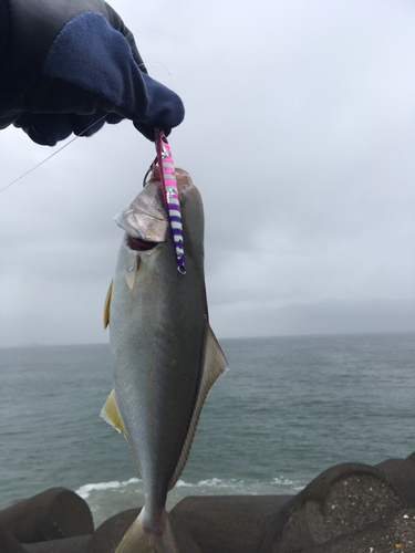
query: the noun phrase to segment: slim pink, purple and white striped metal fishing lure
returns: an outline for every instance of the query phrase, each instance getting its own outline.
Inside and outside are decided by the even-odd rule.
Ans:
[[[156,133],[156,161],[159,167],[164,188],[168,221],[170,223],[175,244],[177,270],[180,274],[186,274],[180,201],[178,198],[175,166],[173,164],[170,147],[163,131],[157,131]]]

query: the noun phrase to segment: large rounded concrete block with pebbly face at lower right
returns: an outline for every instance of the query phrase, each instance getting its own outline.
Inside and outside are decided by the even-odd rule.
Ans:
[[[258,552],[308,551],[334,538],[354,534],[406,504],[406,498],[377,468],[338,465],[317,477],[276,514]]]

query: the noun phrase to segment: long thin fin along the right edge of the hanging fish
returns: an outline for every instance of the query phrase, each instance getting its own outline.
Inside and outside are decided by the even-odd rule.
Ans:
[[[221,351],[220,345],[218,344],[218,341],[216,340],[216,336],[209,325],[207,325],[207,332],[205,337],[205,355],[203,364],[204,365],[203,365],[201,382],[196,400],[195,410],[191,417],[189,428],[187,430],[187,436],[183,445],[180,457],[178,459],[175,471],[170,479],[168,490],[172,490],[176,486],[176,482],[179,479],[183,469],[185,468],[187,458],[189,457],[190,453],[191,444],[195,438],[196,428],[199,422],[200,413],[204,407],[206,396],[208,395],[208,392],[214,385],[215,380],[221,374],[225,373],[228,366],[225,354]]]

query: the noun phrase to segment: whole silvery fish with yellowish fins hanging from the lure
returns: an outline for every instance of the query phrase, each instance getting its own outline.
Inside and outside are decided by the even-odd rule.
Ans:
[[[166,498],[190,452],[206,396],[226,372],[209,325],[204,273],[204,208],[190,176],[176,169],[186,274],[156,170],[116,217],[125,231],[104,307],[114,389],[102,417],[127,439],[144,486],[144,507],[116,553],[179,553]]]

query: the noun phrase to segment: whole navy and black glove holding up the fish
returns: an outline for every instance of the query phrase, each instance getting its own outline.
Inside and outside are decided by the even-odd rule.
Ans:
[[[105,121],[129,118],[151,140],[155,128],[167,135],[181,123],[180,98],[147,75],[132,33],[103,0],[9,0],[9,15],[0,128],[12,123],[53,146]]]

